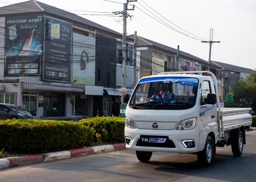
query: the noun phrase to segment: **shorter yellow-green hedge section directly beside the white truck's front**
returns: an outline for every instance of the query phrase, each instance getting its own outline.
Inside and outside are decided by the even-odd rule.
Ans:
[[[80,120],[84,126],[94,128],[94,142],[97,143],[123,143],[125,142],[125,118],[96,117]]]

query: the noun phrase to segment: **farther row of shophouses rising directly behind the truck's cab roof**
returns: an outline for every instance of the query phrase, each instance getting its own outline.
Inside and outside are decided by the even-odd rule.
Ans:
[[[130,35],[131,40],[134,35]],[[217,78],[219,96],[221,96],[222,67],[215,62],[206,62],[192,54],[170,48],[167,45],[157,43],[150,39],[137,36],[137,67],[140,70],[140,78],[159,74],[160,72],[184,72],[210,70]]]

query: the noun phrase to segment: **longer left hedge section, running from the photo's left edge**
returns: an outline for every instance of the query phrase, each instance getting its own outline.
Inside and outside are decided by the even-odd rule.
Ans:
[[[47,153],[92,145],[94,130],[79,122],[5,120],[0,122],[0,149],[11,153]]]

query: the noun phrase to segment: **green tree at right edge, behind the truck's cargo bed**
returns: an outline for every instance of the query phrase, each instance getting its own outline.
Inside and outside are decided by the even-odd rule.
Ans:
[[[256,107],[256,72],[247,76],[245,80],[237,81],[237,84],[231,88],[236,100],[245,100],[247,103]],[[254,109],[255,110],[255,109]]]

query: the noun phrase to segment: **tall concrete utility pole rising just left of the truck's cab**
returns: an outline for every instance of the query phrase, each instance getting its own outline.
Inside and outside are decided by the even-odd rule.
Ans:
[[[115,11],[114,15],[123,15],[123,59],[122,59],[122,88],[121,90],[126,92],[126,62],[127,62],[127,17],[131,17],[127,13],[129,10],[134,10],[135,5],[133,5],[132,9],[128,9],[127,5],[130,2],[135,2],[137,0],[127,0],[126,3],[123,4],[123,11]],[[121,104],[123,104],[123,94],[121,96]]]

